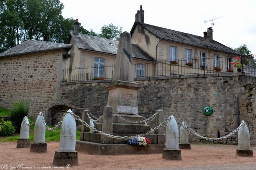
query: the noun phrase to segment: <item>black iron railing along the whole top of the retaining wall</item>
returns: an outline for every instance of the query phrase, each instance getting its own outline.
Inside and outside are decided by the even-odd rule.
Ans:
[[[198,59],[181,59],[174,61],[159,61],[151,63],[133,64],[134,78],[154,76],[175,76],[192,74],[212,74],[226,72],[240,72],[232,67],[235,57],[199,57]],[[251,63],[242,69],[248,76],[248,81],[256,78],[256,64]],[[63,70],[63,82],[112,80],[114,64],[99,67],[72,68]]]

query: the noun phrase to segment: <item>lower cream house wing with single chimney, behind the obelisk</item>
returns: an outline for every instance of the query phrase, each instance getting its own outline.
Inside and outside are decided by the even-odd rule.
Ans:
[[[67,62],[67,69],[64,70],[64,77],[68,81],[92,80],[96,77],[111,79],[118,41],[79,33],[79,25],[76,19],[74,29],[68,36],[67,43],[72,44],[72,49],[69,52],[70,60]],[[155,61],[136,44],[132,45],[132,52],[134,64]],[[134,72],[139,75],[142,71],[135,68]]]

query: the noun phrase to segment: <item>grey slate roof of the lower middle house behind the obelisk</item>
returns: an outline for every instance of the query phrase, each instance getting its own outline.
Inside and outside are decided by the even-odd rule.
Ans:
[[[82,33],[79,33],[79,35],[74,35],[72,32],[70,32],[68,36],[68,43],[70,43],[71,37],[73,37],[78,49],[96,51],[112,55],[117,54],[118,41]],[[150,55],[142,51],[138,45],[132,44],[132,53],[134,58],[155,61],[154,58],[150,57]]]

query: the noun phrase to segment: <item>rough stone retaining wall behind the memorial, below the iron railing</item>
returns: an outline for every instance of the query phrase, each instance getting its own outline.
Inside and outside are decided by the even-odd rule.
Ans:
[[[218,75],[169,77],[170,79],[162,77],[154,78],[155,80],[140,78],[136,81],[142,84],[142,88],[138,90],[139,114],[149,117],[157,109],[162,109],[166,117],[175,115],[180,121],[188,122],[199,134],[217,137],[219,131],[220,136],[224,136],[237,127],[236,95],[239,99],[239,121],[244,119],[248,123],[246,84],[242,75]],[[58,99],[62,98],[70,106],[76,106],[76,113],[79,115],[83,109],[89,109],[98,117],[107,104],[108,91],[104,88],[107,82],[63,83],[66,85],[62,85],[59,93],[62,95]],[[212,115],[202,113],[205,106],[213,108]],[[190,139],[194,142],[212,142],[192,136]],[[220,143],[237,144],[237,141],[237,136],[234,135]]]

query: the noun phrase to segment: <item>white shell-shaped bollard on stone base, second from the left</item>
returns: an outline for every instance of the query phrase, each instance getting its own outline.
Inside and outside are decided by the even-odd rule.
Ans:
[[[34,143],[30,146],[30,152],[47,152],[47,143],[45,143],[45,130],[43,119],[41,117],[42,112],[36,118],[34,128]]]

